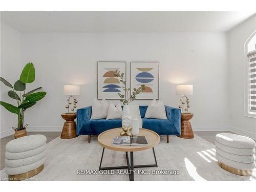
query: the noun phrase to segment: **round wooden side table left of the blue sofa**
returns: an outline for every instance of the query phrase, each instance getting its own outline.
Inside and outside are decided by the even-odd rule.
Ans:
[[[76,113],[62,113],[61,117],[66,120],[61,132],[61,139],[71,139],[77,137],[76,135]]]

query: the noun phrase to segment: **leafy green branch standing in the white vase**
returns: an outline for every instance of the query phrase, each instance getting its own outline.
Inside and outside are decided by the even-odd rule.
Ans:
[[[129,104],[130,102],[134,101],[136,99],[136,96],[142,93],[143,90],[146,89],[144,84],[142,84],[138,89],[134,88],[129,98],[128,96],[129,96],[129,91],[131,91],[131,88],[127,89],[126,87],[126,80],[124,80],[124,73],[120,74],[120,71],[116,70],[114,76],[119,78],[120,82],[123,83],[122,88],[125,95],[118,93],[118,95],[120,96],[120,101],[123,103],[123,105]],[[127,99],[124,99],[124,98],[127,98]]]

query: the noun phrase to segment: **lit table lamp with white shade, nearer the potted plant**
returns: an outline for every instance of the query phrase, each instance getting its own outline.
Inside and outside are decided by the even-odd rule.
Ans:
[[[73,95],[80,95],[80,86],[74,86],[73,84],[67,84],[64,86],[63,91],[64,91],[64,95],[70,95],[69,98],[67,99],[68,104],[66,105],[66,109],[68,109],[68,113],[70,113],[69,108],[70,108],[70,105],[72,104],[71,98],[73,98],[73,108],[71,109],[71,113],[75,113],[76,103],[78,101]]]

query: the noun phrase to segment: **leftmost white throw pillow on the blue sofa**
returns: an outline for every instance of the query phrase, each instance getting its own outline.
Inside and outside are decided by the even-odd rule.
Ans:
[[[102,99],[101,102],[94,99],[91,119],[105,119],[108,115],[109,103]]]

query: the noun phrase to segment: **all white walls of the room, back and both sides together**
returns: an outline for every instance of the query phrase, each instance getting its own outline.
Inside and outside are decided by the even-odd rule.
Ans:
[[[78,108],[96,98],[97,61],[160,61],[160,99],[178,106],[175,86],[193,83],[194,130],[224,130],[255,138],[256,119],[244,116],[243,46],[256,30],[256,16],[224,33],[19,33],[1,22],[1,76],[14,83],[33,62],[47,96],[27,111],[29,130],[61,130],[63,84],[81,85]],[[228,41],[227,41],[228,40]],[[21,56],[22,55],[22,56]],[[228,56],[227,56],[228,55]],[[229,59],[229,61],[228,61]],[[229,63],[229,64],[228,64]],[[230,80],[229,80],[230,79]],[[1,83],[1,100],[15,103]],[[229,102],[227,102],[229,101]],[[116,101],[115,101],[116,102]],[[136,101],[148,104],[149,101]],[[1,106],[1,137],[13,133],[17,117]]]

